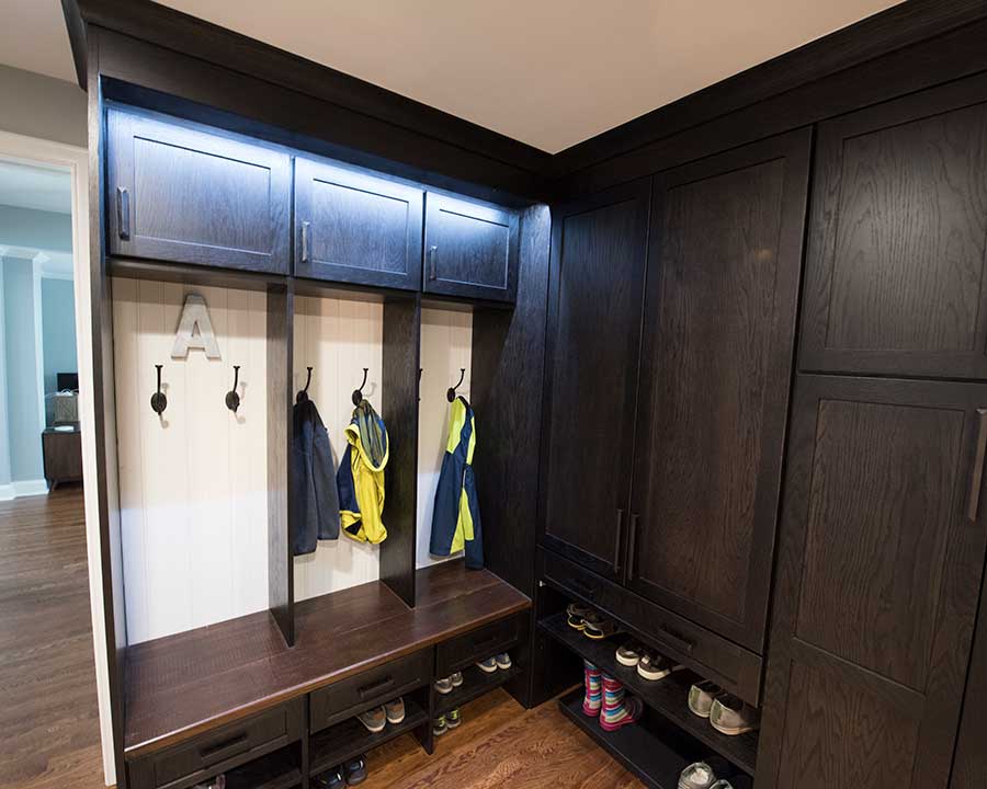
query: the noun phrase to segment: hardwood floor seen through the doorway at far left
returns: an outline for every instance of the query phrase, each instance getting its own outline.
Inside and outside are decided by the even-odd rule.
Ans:
[[[81,487],[0,503],[0,787],[103,786]]]

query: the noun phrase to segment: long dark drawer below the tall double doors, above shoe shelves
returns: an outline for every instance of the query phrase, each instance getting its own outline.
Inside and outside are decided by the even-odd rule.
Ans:
[[[544,548],[538,552],[542,579],[546,583],[619,619],[662,654],[715,681],[745,701],[758,704],[760,655],[557,553]]]

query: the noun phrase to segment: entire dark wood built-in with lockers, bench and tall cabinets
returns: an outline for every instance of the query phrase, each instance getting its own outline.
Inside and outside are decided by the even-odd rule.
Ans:
[[[64,5],[118,786],[332,786],[503,687],[657,789],[987,787],[983,3],[556,155]],[[303,398],[386,426],[385,538],[293,549]]]

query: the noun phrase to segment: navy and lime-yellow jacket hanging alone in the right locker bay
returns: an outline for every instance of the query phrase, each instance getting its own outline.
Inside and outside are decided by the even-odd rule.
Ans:
[[[476,424],[473,409],[463,398],[450,408],[449,443],[442,458],[435,507],[432,512],[432,538],[429,552],[450,556],[466,551],[466,567],[484,567],[484,536],[480,526],[476,480],[473,476],[473,451],[476,448]]]

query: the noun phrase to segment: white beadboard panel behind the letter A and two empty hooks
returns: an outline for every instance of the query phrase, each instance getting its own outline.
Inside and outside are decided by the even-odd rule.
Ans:
[[[171,346],[189,293],[220,359]],[[131,643],[268,606],[263,294],[113,281],[121,527]],[[168,408],[150,409],[162,364]],[[240,365],[236,414],[225,404]]]

